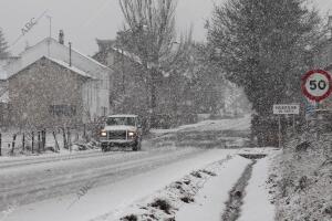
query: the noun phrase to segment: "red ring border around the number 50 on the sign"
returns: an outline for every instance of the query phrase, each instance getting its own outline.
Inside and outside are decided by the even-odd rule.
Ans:
[[[310,94],[310,92],[308,92],[307,87],[305,87],[305,84],[307,84],[307,81],[309,80],[309,77],[313,74],[321,74],[321,75],[324,75],[328,81],[329,81],[329,91],[326,93],[324,93],[322,96],[314,96],[312,94]],[[312,101],[315,101],[315,102],[321,102],[325,98],[328,98],[330,96],[330,94],[332,93],[332,84],[331,84],[331,75],[329,72],[324,71],[324,70],[312,70],[310,72],[308,72],[307,74],[304,74],[302,76],[302,83],[301,83],[301,87],[302,87],[302,93],[309,98],[309,99],[312,99]]]

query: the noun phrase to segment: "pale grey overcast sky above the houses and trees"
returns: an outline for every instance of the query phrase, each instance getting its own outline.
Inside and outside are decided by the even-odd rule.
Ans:
[[[214,2],[224,0],[178,0],[177,27],[186,31],[193,24],[194,39],[203,41],[206,19],[210,17]],[[311,0],[322,14],[332,10],[331,0]],[[95,39],[112,39],[122,28],[123,17],[118,0],[0,0],[0,28],[3,29],[10,44],[21,34],[21,29],[31,19],[49,10],[52,15],[53,38],[60,29],[65,32],[65,41],[72,41],[74,48],[92,55],[96,50]],[[27,42],[30,45],[49,35],[49,20],[42,18],[33,29],[14,46],[13,54],[22,51]]]

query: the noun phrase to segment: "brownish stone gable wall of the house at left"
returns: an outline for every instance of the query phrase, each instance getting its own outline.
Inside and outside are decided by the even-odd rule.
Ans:
[[[42,57],[9,78],[12,123],[21,128],[80,124],[85,81],[82,75]]]

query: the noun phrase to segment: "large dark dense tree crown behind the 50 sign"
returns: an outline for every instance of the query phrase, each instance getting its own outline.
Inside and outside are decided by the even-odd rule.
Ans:
[[[320,23],[304,0],[228,0],[215,7],[210,23],[218,62],[260,116],[270,115],[273,104],[297,102]]]

